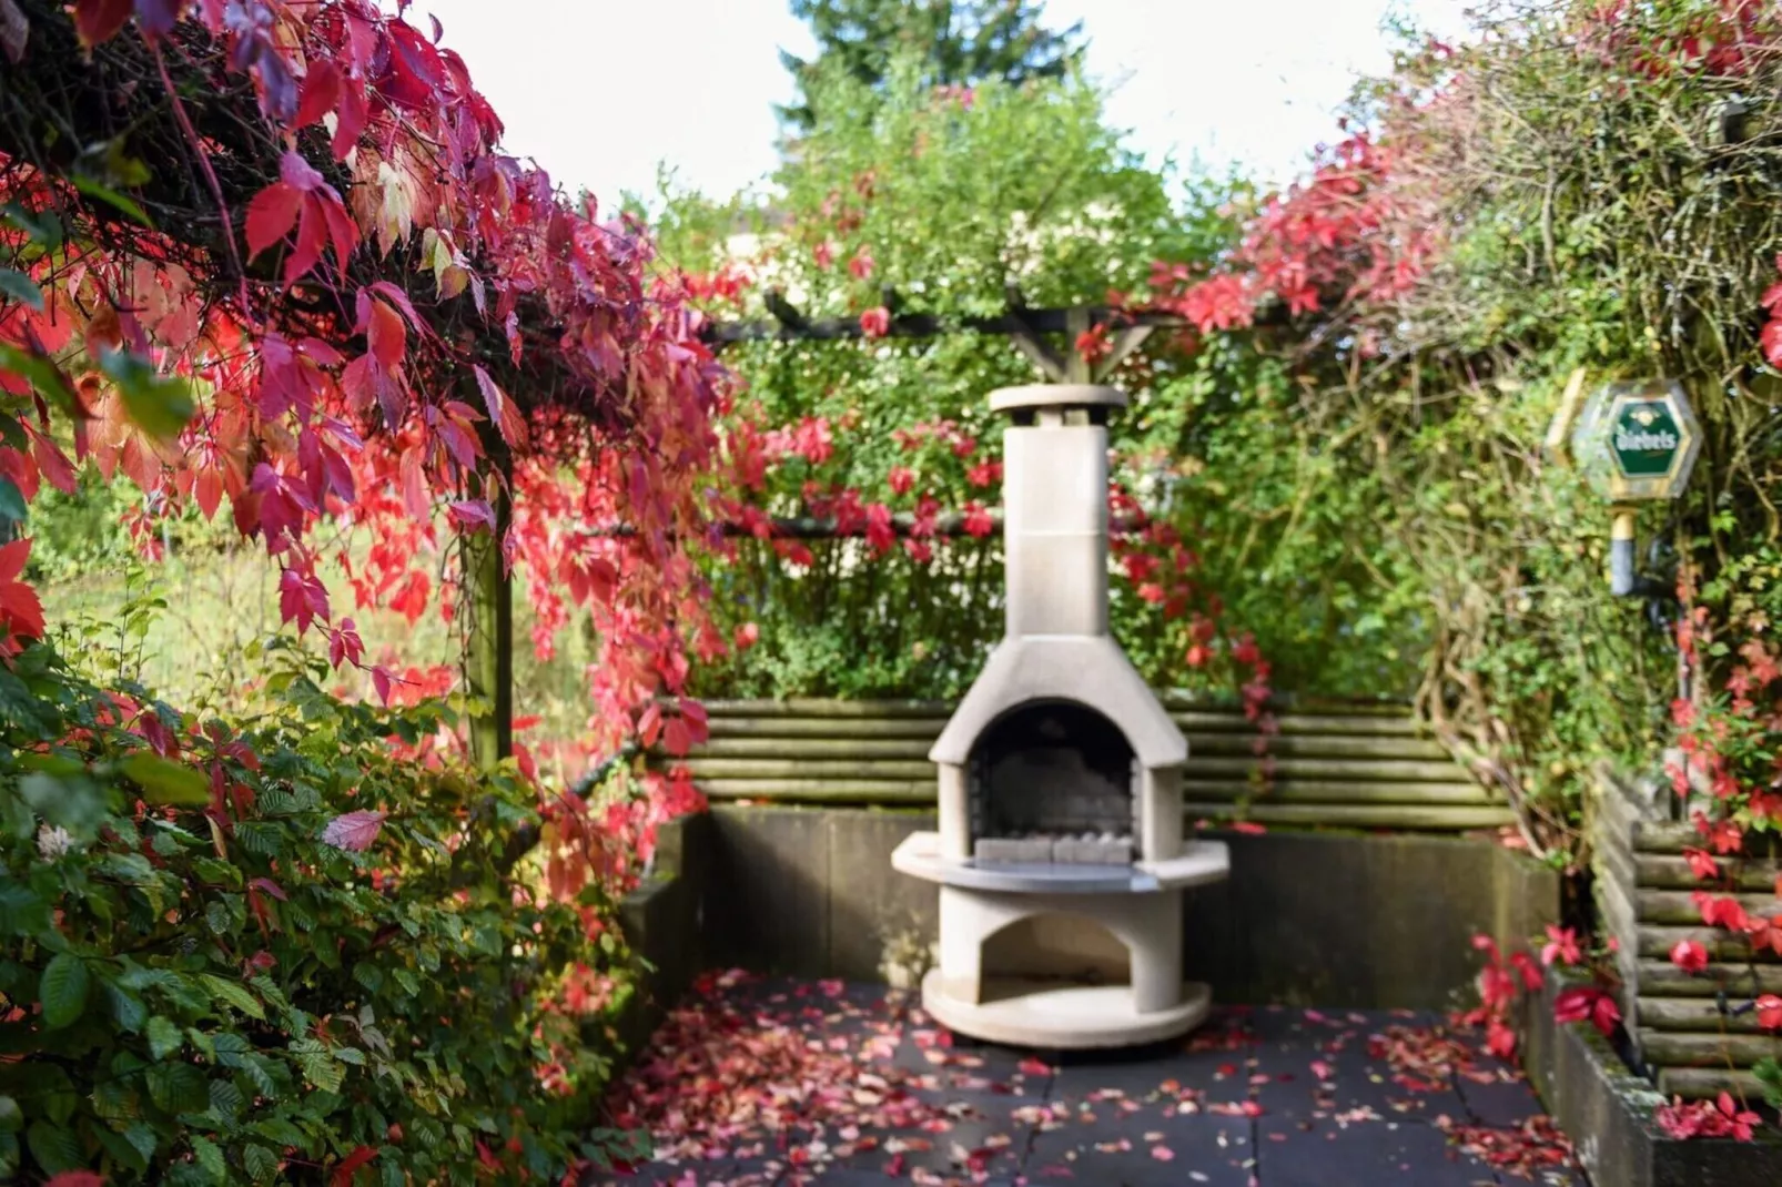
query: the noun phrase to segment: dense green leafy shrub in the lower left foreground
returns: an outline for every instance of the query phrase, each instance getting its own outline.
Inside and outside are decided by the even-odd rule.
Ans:
[[[617,957],[602,891],[510,870],[535,791],[426,757],[451,708],[266,659],[239,724],[50,645],[0,667],[0,1176],[517,1182],[597,1153],[581,1027],[624,989],[576,961]]]

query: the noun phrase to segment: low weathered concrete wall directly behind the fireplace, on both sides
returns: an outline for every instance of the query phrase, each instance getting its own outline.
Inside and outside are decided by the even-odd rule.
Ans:
[[[932,815],[722,806],[709,823],[707,962],[880,980],[887,948],[932,943],[936,888],[891,868]],[[1442,1007],[1477,971],[1475,932],[1522,943],[1557,920],[1557,875],[1486,841],[1208,836],[1231,880],[1189,893],[1185,961],[1224,1002]]]

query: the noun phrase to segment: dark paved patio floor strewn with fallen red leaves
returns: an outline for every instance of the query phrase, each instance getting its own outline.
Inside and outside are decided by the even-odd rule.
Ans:
[[[882,986],[709,975],[617,1089],[656,1157],[588,1187],[1584,1187],[1522,1075],[1406,1011],[1224,1009],[1185,1041],[1016,1052]]]

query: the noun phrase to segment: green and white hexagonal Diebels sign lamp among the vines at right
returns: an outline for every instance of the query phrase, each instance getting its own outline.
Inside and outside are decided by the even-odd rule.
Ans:
[[[1702,426],[1677,381],[1611,383],[1590,397],[1572,456],[1604,499],[1675,499],[1689,485]]]

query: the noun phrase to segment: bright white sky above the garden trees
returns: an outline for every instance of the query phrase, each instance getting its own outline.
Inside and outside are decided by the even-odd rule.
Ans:
[[[1153,162],[1240,162],[1274,182],[1335,139],[1358,73],[1388,64],[1383,21],[1445,37],[1470,0],[1046,0],[1083,23],[1108,119]],[[602,207],[684,187],[727,194],[775,162],[773,105],[791,98],[784,46],[813,41],[786,0],[415,0],[506,123],[506,146]]]

